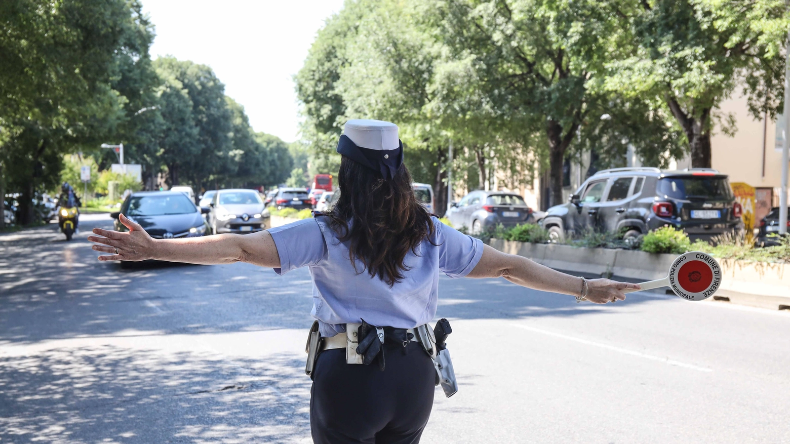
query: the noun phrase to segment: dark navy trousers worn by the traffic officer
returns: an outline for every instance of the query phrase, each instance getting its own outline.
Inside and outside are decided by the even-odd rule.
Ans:
[[[348,364],[345,348],[318,355],[310,390],[315,444],[416,444],[431,416],[435,371],[417,342],[384,344],[386,368]]]

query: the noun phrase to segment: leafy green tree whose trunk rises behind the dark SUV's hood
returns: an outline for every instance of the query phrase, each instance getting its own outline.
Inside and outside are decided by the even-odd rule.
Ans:
[[[593,85],[618,58],[622,11],[598,0],[436,0],[427,6],[452,57],[469,59],[487,103],[548,144],[551,205],[562,201],[562,164],[585,122],[604,115]]]

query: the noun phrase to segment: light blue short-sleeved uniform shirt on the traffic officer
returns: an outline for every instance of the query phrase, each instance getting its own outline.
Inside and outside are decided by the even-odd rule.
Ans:
[[[345,331],[349,322],[364,319],[372,325],[413,329],[431,321],[438,304],[439,272],[465,277],[483,255],[483,242],[439,222],[435,217],[433,244],[423,241],[409,252],[404,279],[392,288],[371,277],[361,262],[355,271],[348,247],[340,243],[325,216],[269,228],[277,253],[278,274],[310,267],[313,310],[322,336]],[[436,244],[436,245],[434,245]]]

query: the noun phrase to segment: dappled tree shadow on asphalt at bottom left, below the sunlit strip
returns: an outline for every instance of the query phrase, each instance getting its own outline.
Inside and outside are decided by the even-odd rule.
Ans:
[[[306,442],[302,366],[114,346],[0,358],[0,442]]]

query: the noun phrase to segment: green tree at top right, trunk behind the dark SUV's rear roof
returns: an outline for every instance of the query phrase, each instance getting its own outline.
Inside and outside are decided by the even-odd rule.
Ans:
[[[738,89],[756,119],[783,106],[784,0],[642,0],[628,13],[633,54],[608,63],[606,85],[658,103],[685,134],[693,167],[710,167],[715,122],[734,131],[732,116],[717,112]]]

